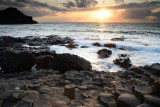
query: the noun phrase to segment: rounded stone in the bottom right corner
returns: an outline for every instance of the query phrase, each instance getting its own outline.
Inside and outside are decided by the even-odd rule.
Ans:
[[[151,104],[151,105],[154,105],[157,107],[160,106],[160,97],[159,96],[156,96],[153,94],[146,94],[146,95],[144,95],[144,98],[148,104]]]

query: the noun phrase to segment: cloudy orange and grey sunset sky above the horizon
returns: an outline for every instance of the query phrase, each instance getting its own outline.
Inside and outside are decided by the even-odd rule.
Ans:
[[[39,22],[160,22],[160,0],[0,0]]]

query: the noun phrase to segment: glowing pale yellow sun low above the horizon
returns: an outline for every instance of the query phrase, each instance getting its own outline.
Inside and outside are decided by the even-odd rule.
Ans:
[[[105,21],[105,19],[108,19],[111,15],[111,11],[105,9],[101,9],[93,13],[93,16],[96,17],[99,21]]]

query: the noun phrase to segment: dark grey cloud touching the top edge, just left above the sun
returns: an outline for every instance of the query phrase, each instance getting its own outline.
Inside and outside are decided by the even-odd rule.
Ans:
[[[77,7],[77,8],[86,8],[90,6],[95,6],[98,2],[96,0],[74,0],[64,3],[64,6],[67,8]]]

